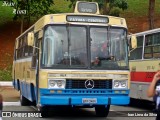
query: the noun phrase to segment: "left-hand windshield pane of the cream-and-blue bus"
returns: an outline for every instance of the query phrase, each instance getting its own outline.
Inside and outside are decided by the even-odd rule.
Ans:
[[[44,33],[42,65],[54,68],[86,67],[87,32],[84,26],[48,26]]]

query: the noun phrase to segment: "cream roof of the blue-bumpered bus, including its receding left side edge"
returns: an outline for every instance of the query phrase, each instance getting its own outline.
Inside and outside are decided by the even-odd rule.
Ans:
[[[97,18],[107,18],[108,22],[77,22],[77,21],[67,21],[67,16],[80,16],[80,17],[97,17]],[[102,19],[102,20],[103,20]],[[101,19],[100,19],[101,20]],[[34,32],[42,30],[42,28],[48,24],[83,24],[83,25],[100,25],[100,26],[115,26],[115,27],[123,27],[127,29],[126,20],[120,17],[107,16],[107,15],[97,15],[97,14],[88,14],[88,13],[62,13],[62,14],[48,14],[41,17],[35,24],[33,24],[29,29],[23,32],[18,38],[26,34],[27,32],[33,29]]]

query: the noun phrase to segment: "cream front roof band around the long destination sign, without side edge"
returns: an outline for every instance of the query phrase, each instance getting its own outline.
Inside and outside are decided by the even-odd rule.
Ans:
[[[113,16],[106,16],[106,15],[95,15],[95,14],[87,14],[87,13],[63,13],[63,14],[49,14],[45,15],[42,18],[40,18],[35,23],[35,31],[38,31],[39,29],[43,28],[47,24],[54,24],[54,23],[79,23],[79,24],[94,24],[94,25],[104,25],[104,23],[95,23],[95,22],[73,22],[73,21],[67,21],[67,16],[88,16],[88,17],[106,17],[108,18],[108,23],[105,25],[111,25],[111,26],[119,26],[127,28],[126,21],[124,18],[120,17],[113,17]],[[82,19],[82,18],[81,18]]]

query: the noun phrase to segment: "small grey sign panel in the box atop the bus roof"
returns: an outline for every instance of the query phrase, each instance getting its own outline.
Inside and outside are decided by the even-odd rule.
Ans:
[[[97,12],[97,4],[89,2],[79,2],[78,12],[80,13],[93,13]]]

